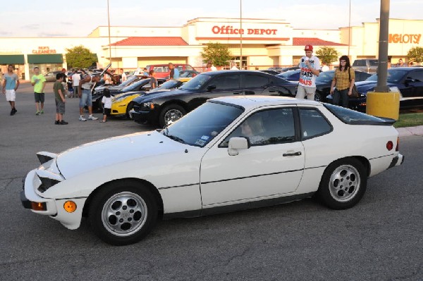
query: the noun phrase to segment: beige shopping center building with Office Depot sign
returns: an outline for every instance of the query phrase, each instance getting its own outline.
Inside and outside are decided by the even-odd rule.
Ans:
[[[390,19],[388,58],[407,63],[407,51],[423,46],[423,20]],[[243,18],[195,18],[182,27],[100,26],[87,37],[2,37],[1,71],[7,64],[16,66],[21,79],[28,80],[35,65],[42,72],[70,68],[66,49],[85,46],[97,54],[98,67],[135,70],[152,63],[188,63],[204,68],[200,53],[205,44],[219,42],[228,46],[233,60],[243,69],[297,65],[304,56],[305,44],[314,51],[331,46],[340,54],[356,58],[377,58],[379,20],[338,30],[296,29],[286,20]],[[109,44],[110,42],[110,44]],[[333,62],[336,64],[336,61]]]

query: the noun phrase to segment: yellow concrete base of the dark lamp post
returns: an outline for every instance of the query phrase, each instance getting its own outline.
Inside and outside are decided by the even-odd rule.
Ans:
[[[366,113],[398,120],[400,92],[367,92]]]

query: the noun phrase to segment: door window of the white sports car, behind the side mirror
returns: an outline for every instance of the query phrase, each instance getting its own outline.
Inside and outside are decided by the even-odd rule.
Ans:
[[[251,146],[295,141],[293,108],[278,108],[253,113],[226,137],[221,147],[228,147],[231,137],[246,137]]]

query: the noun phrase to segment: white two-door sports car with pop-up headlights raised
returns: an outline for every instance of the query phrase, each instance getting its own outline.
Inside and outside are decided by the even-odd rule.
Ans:
[[[21,201],[71,230],[86,216],[115,245],[140,241],[161,216],[204,216],[313,194],[329,208],[350,208],[368,177],[403,163],[392,123],[316,101],[211,99],[164,130],[39,152],[41,166],[26,176]]]

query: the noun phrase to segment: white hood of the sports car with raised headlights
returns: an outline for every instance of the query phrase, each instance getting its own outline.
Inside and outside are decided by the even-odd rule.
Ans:
[[[76,146],[59,154],[56,163],[67,179],[134,158],[171,153],[185,149],[185,146],[157,131],[139,132]]]

